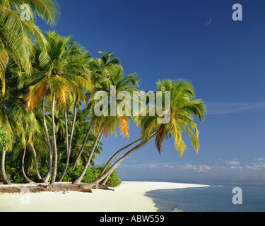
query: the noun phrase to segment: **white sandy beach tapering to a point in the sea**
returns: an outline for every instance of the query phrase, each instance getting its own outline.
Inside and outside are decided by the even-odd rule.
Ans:
[[[0,185],[4,186],[4,185]],[[93,193],[78,191],[29,194],[0,194],[0,211],[79,211],[79,212],[155,212],[147,191],[202,187],[201,184],[168,182],[122,182],[115,191],[93,189]]]

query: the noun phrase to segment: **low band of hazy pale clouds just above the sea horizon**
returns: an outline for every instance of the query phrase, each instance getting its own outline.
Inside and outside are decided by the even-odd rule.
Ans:
[[[247,162],[217,160],[207,164],[179,162],[150,162],[143,164],[120,164],[118,174],[138,179],[265,179],[265,159],[254,157]]]

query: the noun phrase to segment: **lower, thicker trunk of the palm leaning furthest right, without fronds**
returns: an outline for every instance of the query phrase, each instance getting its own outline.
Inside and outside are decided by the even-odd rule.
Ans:
[[[135,153],[136,150],[139,150],[144,145],[146,145],[155,136],[156,136],[156,133],[154,133],[148,139],[148,141],[143,141],[143,142],[139,143],[139,145],[137,145],[136,147],[134,147],[131,150],[129,150],[124,156],[120,157],[119,160],[117,160],[117,162],[115,162],[114,165],[112,165],[112,167],[110,167],[110,169],[107,170],[107,172],[105,172],[105,174],[102,174],[102,176],[98,177],[93,182],[90,182],[90,183],[86,184],[85,187],[91,189],[91,188],[93,188],[93,186],[95,186],[95,188],[97,188],[98,187],[98,184],[102,181],[102,179],[105,179],[106,177],[108,177],[113,172],[113,170],[116,169],[116,167],[119,165],[119,163],[121,163],[123,160],[125,160],[127,157],[129,157],[131,154]]]

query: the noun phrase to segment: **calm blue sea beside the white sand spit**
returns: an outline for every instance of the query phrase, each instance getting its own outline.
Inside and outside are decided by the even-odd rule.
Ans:
[[[163,181],[165,182],[165,181]],[[177,208],[184,212],[265,212],[265,181],[167,181],[187,184],[207,184],[208,187],[149,191],[158,212],[170,212]],[[237,187],[242,191],[242,204],[232,193]]]

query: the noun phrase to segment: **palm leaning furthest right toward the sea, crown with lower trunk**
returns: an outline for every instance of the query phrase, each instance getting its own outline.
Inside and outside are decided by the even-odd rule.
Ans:
[[[165,138],[173,137],[175,139],[175,148],[179,150],[179,157],[183,156],[186,145],[182,139],[183,131],[186,131],[187,134],[192,138],[192,145],[196,152],[199,151],[199,131],[194,122],[194,116],[202,121],[206,114],[206,107],[204,102],[200,99],[194,100],[195,91],[192,83],[189,81],[158,81],[158,92],[162,92],[162,95],[165,92],[170,92],[170,105],[167,105],[168,108],[166,111],[170,111],[170,119],[165,124],[158,124],[158,119],[163,119],[164,116],[160,114],[155,114],[155,116],[139,116],[136,117],[136,124],[141,127],[141,138],[142,142],[136,147],[131,148],[125,155],[119,158],[117,162],[110,167],[107,172],[102,174],[98,179],[95,179],[94,182],[90,182],[87,186],[93,187],[97,186],[102,179],[108,177],[113,170],[119,165],[120,162],[129,157],[136,150],[139,150],[153,138],[155,138],[155,145],[158,148],[158,152],[161,153],[162,143],[165,141]],[[165,105],[165,99],[162,101],[163,106]],[[147,112],[150,107],[148,107]],[[141,112],[140,112],[141,113]]]

